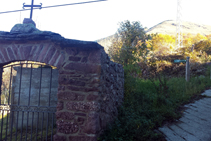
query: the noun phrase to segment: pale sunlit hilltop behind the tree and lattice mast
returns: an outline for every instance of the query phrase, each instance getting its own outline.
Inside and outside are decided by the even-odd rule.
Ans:
[[[183,22],[183,33],[190,33],[193,35],[196,35],[198,33],[202,35],[209,35],[211,34],[211,26],[210,25],[202,25],[202,24],[196,24],[192,22]],[[176,34],[176,21],[167,20],[163,21],[151,28],[149,28],[146,31],[146,34],[152,34],[152,33],[162,33],[162,34],[169,34],[169,35],[175,35]],[[97,40],[100,45],[102,45],[105,48],[105,51],[108,51],[108,47],[111,45],[111,42],[114,38],[114,35],[102,38]]]

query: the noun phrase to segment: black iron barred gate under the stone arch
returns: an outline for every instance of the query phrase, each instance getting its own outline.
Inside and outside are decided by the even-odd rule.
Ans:
[[[0,141],[53,140],[58,70],[22,61],[3,66],[0,75]]]

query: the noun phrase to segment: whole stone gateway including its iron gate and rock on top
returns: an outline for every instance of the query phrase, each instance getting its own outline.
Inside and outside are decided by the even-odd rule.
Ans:
[[[123,68],[102,46],[32,21],[0,32],[0,68],[0,140],[95,141],[123,100]]]

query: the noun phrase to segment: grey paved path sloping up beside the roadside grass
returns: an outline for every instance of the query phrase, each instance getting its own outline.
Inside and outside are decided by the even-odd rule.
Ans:
[[[185,105],[178,121],[158,129],[167,141],[211,141],[211,90],[202,95],[208,97]]]

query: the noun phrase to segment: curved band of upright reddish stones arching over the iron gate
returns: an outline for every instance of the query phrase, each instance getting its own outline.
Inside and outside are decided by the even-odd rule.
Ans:
[[[35,61],[60,67],[65,60],[65,54],[53,43],[39,44],[7,44],[0,46],[0,64],[15,61]]]

